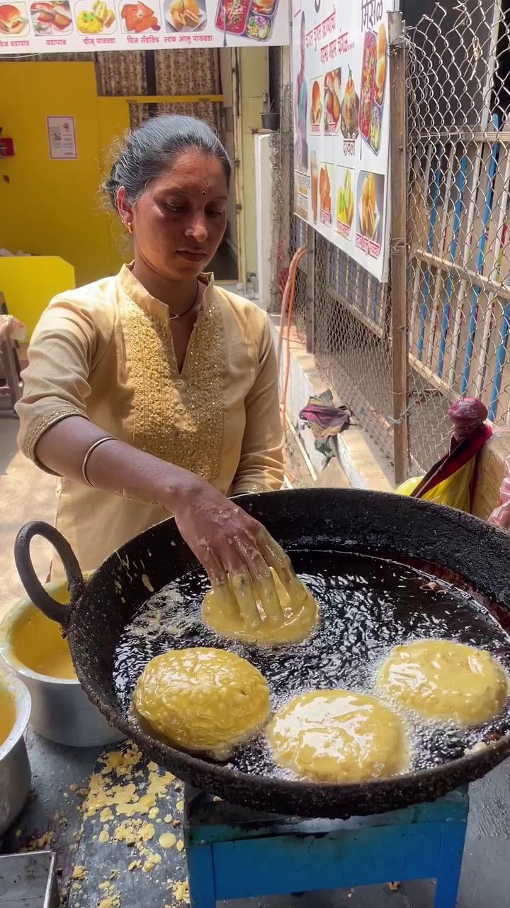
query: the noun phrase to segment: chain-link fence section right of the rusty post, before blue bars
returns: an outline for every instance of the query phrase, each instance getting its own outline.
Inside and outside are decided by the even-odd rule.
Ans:
[[[453,400],[510,415],[509,8],[436,5],[407,29],[409,449],[424,467]]]

